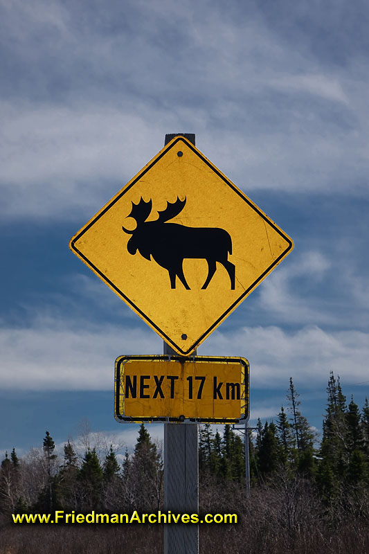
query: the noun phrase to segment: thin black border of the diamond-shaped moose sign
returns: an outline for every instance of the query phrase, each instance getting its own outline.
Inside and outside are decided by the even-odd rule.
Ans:
[[[154,165],[156,162],[158,162],[163,156],[165,156],[165,154],[167,152],[169,152],[169,150],[171,150],[172,148],[174,148],[174,146],[179,143],[179,141],[182,141],[183,143],[185,143],[188,148],[190,148],[192,150],[192,152],[194,152],[202,161],[204,161],[204,163],[206,163],[206,165],[212,170],[214,171],[218,177],[220,177],[220,179],[222,179],[222,181],[224,181],[224,183],[226,183],[229,187],[232,188],[232,190],[234,190],[234,192],[239,195],[243,200],[244,202],[246,202],[246,204],[249,204],[249,206],[251,208],[253,208],[254,211],[256,211],[260,217],[262,217],[262,219],[264,221],[267,222],[267,224],[269,224],[271,227],[273,227],[273,229],[275,231],[277,231],[277,233],[285,239],[286,242],[289,243],[289,246],[287,249],[285,249],[285,251],[283,251],[280,256],[278,256],[278,258],[276,258],[276,260],[274,260],[274,262],[269,265],[269,267],[267,267],[267,269],[260,275],[260,277],[258,277],[258,279],[256,279],[252,285],[250,285],[249,288],[247,288],[242,294],[241,296],[239,296],[237,298],[237,300],[235,302],[233,302],[233,304],[228,307],[228,309],[224,312],[224,314],[222,314],[222,316],[220,316],[214,323],[213,325],[210,325],[210,327],[208,328],[208,330],[206,330],[206,332],[204,332],[203,334],[201,334],[201,337],[199,337],[199,339],[197,339],[197,341],[195,341],[191,346],[190,348],[188,348],[187,350],[182,350],[182,348],[180,348],[176,343],[174,343],[174,341],[172,341],[172,339],[170,339],[168,337],[167,334],[165,334],[157,325],[155,325],[154,321],[152,321],[150,319],[150,317],[147,317],[146,314],[144,314],[144,312],[142,310],[140,310],[140,308],[138,306],[136,306],[131,300],[129,300],[129,298],[120,290],[118,289],[118,287],[116,287],[116,285],[114,285],[114,283],[111,282],[111,280],[109,280],[103,273],[102,271],[100,271],[95,265],[93,265],[93,263],[90,262],[90,260],[88,258],[86,258],[86,256],[84,256],[82,254],[82,252],[80,252],[78,250],[78,248],[75,247],[74,243],[76,240],[79,240],[82,235],[84,235],[84,233],[86,233],[86,231],[96,222],[100,219],[100,217],[102,217],[102,215],[104,215],[110,208],[111,206],[114,206],[114,204],[116,202],[118,202],[118,200],[123,197],[123,195],[125,195],[125,193],[128,192],[128,190],[130,190],[135,184],[136,182],[141,179],[141,177],[143,177],[143,175],[145,175],[145,173],[147,173],[147,171],[149,171]],[[168,344],[172,345],[172,347],[174,348],[174,350],[177,350],[178,352],[181,352],[181,354],[183,354],[184,356],[188,356],[190,355],[191,352],[193,352],[194,350],[196,350],[197,346],[199,346],[199,344],[204,340],[205,337],[207,337],[211,332],[213,332],[213,330],[215,330],[215,328],[217,328],[217,326],[219,325],[219,323],[222,323],[222,321],[224,321],[224,319],[226,319],[226,316],[233,311],[233,309],[235,307],[237,307],[238,304],[240,304],[242,302],[242,299],[247,296],[249,294],[249,292],[251,292],[252,289],[254,289],[256,287],[256,285],[258,285],[258,283],[264,278],[264,276],[266,276],[269,271],[271,271],[271,269],[278,265],[278,263],[280,262],[280,260],[282,260],[282,258],[284,258],[286,255],[287,255],[287,252],[289,252],[291,249],[293,248],[293,244],[291,242],[291,240],[289,240],[289,238],[287,237],[287,235],[285,235],[284,233],[282,233],[282,231],[280,231],[280,229],[278,229],[278,227],[276,225],[273,224],[273,222],[271,220],[269,220],[269,218],[267,218],[264,213],[262,213],[260,210],[258,210],[257,206],[254,206],[253,204],[251,204],[251,202],[249,202],[249,199],[244,196],[242,193],[240,194],[240,190],[237,190],[237,188],[235,188],[235,186],[233,185],[233,183],[231,183],[231,181],[228,181],[228,179],[226,179],[226,177],[224,175],[222,175],[218,170],[217,168],[215,168],[215,166],[213,166],[213,164],[211,164],[205,157],[201,156],[201,154],[195,150],[195,148],[193,148],[192,144],[190,142],[188,142],[186,139],[183,140],[183,136],[179,136],[178,139],[176,139],[168,148],[165,148],[165,150],[160,154],[159,157],[157,157],[152,163],[150,163],[150,165],[148,165],[146,168],[143,169],[143,171],[141,173],[138,174],[138,176],[136,177],[136,179],[134,179],[134,181],[132,181],[132,183],[127,186],[126,188],[124,188],[122,190],[122,193],[120,193],[120,195],[118,195],[116,198],[114,198],[111,202],[109,202],[109,204],[107,204],[107,206],[105,207],[105,209],[99,213],[96,217],[93,218],[93,220],[91,220],[91,222],[89,223],[89,225],[87,225],[87,227],[85,227],[83,229],[83,231],[81,231],[75,238],[74,240],[72,240],[71,242],[71,249],[73,249],[76,253],[78,253],[78,256],[80,256],[80,258],[82,258],[86,263],[87,265],[89,265],[89,267],[93,267],[93,270],[96,271],[96,273],[98,275],[100,275],[102,277],[102,280],[105,280],[106,283],[109,283],[109,285],[111,286],[112,289],[114,289],[117,293],[118,293],[118,296],[121,296],[122,298],[124,298],[125,302],[129,305],[131,305],[133,307],[133,309],[138,313],[140,314],[140,316],[142,317],[142,319],[144,321],[147,321],[147,323],[149,323],[149,325],[154,328],[161,337],[163,337],[163,339],[165,340],[165,342],[167,342]]]

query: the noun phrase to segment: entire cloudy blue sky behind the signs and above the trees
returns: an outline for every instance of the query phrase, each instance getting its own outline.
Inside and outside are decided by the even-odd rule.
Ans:
[[[114,420],[114,360],[163,341],[68,243],[163,148],[197,148],[294,251],[200,346],[251,367],[251,425],[289,377],[321,432],[330,371],[369,396],[363,0],[0,0],[0,452]],[[160,438],[162,425],[150,425]]]

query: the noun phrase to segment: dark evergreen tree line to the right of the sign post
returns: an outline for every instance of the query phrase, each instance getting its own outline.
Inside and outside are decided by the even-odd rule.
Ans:
[[[334,499],[346,487],[366,488],[369,483],[369,403],[362,410],[351,398],[347,404],[339,378],[330,374],[323,436],[318,436],[300,411],[300,400],[292,379],[287,408],[281,406],[275,420],[260,419],[249,429],[251,486],[273,486],[276,472],[300,476],[314,483],[321,497]],[[221,437],[211,425],[200,431],[201,472],[242,483],[245,478],[244,443],[230,426]]]

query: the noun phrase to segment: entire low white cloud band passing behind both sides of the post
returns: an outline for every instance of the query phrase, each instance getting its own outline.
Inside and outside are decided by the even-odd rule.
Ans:
[[[151,330],[38,316],[28,328],[1,328],[1,387],[15,390],[112,390],[114,360],[122,354],[162,352]],[[286,331],[277,326],[213,333],[199,355],[249,359],[256,388],[286,386],[289,377],[307,388],[327,381],[330,370],[348,382],[365,381],[368,334],[329,332],[316,325]]]

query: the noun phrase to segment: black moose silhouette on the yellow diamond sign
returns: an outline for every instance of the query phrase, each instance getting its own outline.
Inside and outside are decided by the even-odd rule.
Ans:
[[[146,221],[152,211],[152,200],[145,202],[141,197],[138,204],[132,202],[132,211],[127,217],[136,220],[136,229],[125,233],[132,235],[127,242],[127,250],[134,255],[138,251],[146,260],[152,259],[164,269],[170,278],[170,287],[176,288],[176,277],[186,289],[190,289],[183,274],[185,258],[201,258],[208,262],[208,276],[201,289],[206,289],[217,269],[222,264],[231,280],[231,289],[235,289],[235,265],[228,260],[232,253],[231,235],[218,227],[188,227],[178,223],[167,223],[183,210],[186,198],[167,202],[167,207],[159,211],[155,221]]]

